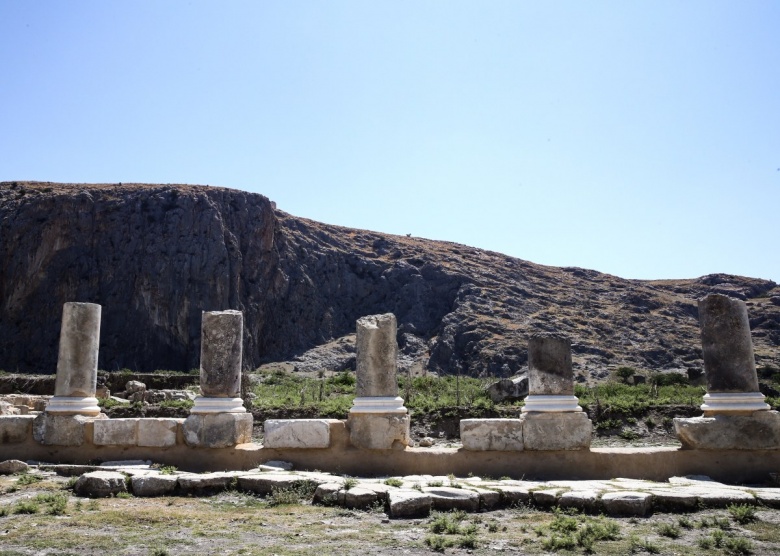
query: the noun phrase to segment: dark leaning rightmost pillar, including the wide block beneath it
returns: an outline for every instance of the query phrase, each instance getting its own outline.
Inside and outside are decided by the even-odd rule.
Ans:
[[[707,394],[702,417],[675,419],[683,448],[780,449],[780,413],[758,390],[747,306],[725,295],[699,300]]]

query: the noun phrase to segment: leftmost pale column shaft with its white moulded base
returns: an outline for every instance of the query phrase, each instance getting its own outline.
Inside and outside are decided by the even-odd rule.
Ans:
[[[100,347],[100,305],[65,303],[54,397],[46,412],[56,415],[100,413],[95,397]]]

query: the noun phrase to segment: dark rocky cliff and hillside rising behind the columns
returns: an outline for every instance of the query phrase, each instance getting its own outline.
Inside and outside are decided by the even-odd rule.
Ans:
[[[355,321],[395,313],[405,369],[509,376],[535,332],[575,369],[701,367],[695,300],[745,299],[759,365],[780,367],[780,287],[726,275],[624,280],[329,226],[242,191],[0,183],[0,369],[53,372],[62,304],[103,306],[100,367],[198,366],[202,311],[244,312],[244,366],[354,362]]]

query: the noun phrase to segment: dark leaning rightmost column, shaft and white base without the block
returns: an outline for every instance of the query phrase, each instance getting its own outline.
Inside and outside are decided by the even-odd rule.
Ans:
[[[711,294],[699,300],[699,325],[707,378],[705,415],[768,410],[758,390],[747,306]]]

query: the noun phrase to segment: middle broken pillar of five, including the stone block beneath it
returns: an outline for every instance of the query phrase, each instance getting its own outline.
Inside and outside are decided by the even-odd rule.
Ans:
[[[357,321],[357,397],[349,411],[350,441],[359,448],[387,450],[409,445],[409,412],[398,396],[395,315]]]

